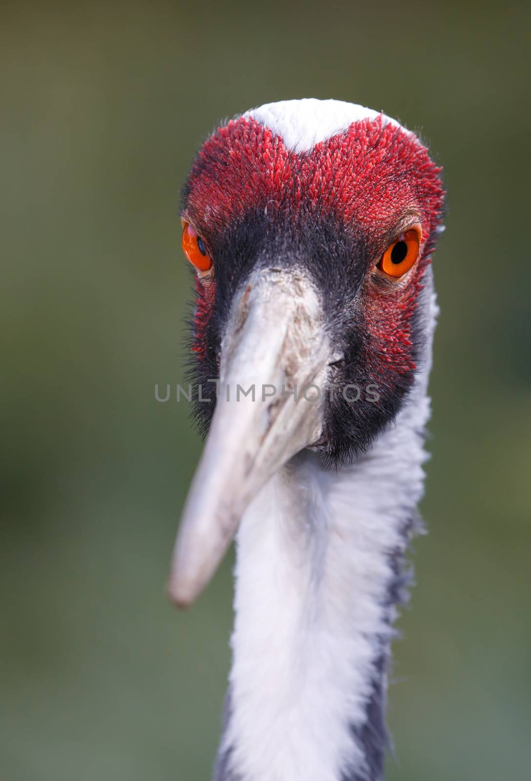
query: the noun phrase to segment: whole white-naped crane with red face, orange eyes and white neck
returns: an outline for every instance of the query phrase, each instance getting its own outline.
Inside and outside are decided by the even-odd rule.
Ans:
[[[191,167],[181,218],[208,437],[169,594],[191,604],[236,535],[216,781],[383,778],[443,196],[415,134],[334,100],[253,109]]]

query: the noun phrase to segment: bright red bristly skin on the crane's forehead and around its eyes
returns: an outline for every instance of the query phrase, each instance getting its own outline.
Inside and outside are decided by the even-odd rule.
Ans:
[[[411,320],[433,248],[427,239],[440,221],[444,197],[440,170],[415,135],[384,125],[381,116],[352,123],[301,154],[288,151],[282,138],[254,119],[234,119],[201,148],[191,169],[184,216],[206,236],[257,207],[267,208],[272,220],[277,209],[289,209],[294,219],[315,211],[358,226],[374,251],[362,302],[376,346],[375,374],[378,369],[408,373],[415,370]],[[421,226],[420,257],[403,280],[382,280],[372,264],[394,239],[389,231],[401,220],[399,233],[412,224]],[[198,298],[198,344],[214,297],[211,284]]]

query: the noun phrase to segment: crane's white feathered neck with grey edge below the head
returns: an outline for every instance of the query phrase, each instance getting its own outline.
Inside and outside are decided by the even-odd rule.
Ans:
[[[422,371],[394,425],[338,473],[303,451],[244,515],[216,781],[383,776],[394,606],[426,458],[425,301]]]

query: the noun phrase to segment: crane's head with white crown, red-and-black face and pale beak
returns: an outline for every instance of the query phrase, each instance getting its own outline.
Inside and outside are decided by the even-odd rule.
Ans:
[[[178,604],[278,469],[305,448],[341,468],[394,421],[426,355],[442,201],[419,139],[358,105],[265,105],[198,152],[181,219],[208,437],[173,558]]]

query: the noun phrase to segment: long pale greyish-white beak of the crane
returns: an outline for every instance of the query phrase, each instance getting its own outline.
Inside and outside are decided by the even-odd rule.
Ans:
[[[205,588],[267,480],[319,440],[328,360],[322,308],[307,278],[255,273],[233,303],[216,410],[173,551],[168,589],[180,607]]]

